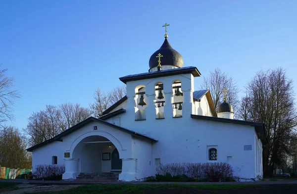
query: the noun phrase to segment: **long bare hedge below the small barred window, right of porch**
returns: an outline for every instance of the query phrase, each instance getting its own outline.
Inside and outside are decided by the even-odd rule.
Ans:
[[[146,181],[232,181],[233,169],[228,163],[169,163],[157,166],[156,177]]]

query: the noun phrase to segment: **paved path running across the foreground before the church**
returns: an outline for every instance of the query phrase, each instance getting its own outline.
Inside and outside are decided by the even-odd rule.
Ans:
[[[64,180],[64,181],[36,181],[25,179],[1,179],[0,182],[12,182],[33,185],[90,185],[90,184],[180,184],[180,185],[276,185],[276,184],[297,184],[297,180],[292,181],[253,181],[253,182],[103,182],[94,180]]]

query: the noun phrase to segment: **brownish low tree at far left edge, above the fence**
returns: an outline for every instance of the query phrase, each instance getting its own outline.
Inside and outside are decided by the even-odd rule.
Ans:
[[[31,154],[25,150],[26,142],[14,127],[1,127],[0,164],[10,168],[31,168]]]

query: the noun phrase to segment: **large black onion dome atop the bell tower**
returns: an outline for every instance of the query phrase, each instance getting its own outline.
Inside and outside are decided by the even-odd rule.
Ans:
[[[168,40],[165,38],[163,45],[155,51],[149,58],[149,69],[158,66],[158,58],[156,57],[158,54],[163,55],[160,58],[161,66],[163,65],[173,65],[176,67],[184,66],[184,59],[182,55],[173,49],[171,45],[168,43]]]

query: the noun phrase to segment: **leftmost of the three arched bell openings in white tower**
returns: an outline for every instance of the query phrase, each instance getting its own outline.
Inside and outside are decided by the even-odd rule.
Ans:
[[[147,96],[145,85],[135,87],[135,100],[135,120],[146,120]]]

